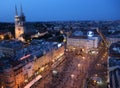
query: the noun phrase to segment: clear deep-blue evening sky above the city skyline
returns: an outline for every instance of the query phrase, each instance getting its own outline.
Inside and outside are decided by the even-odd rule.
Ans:
[[[120,0],[0,0],[0,22],[14,22],[21,4],[28,22],[120,20]]]

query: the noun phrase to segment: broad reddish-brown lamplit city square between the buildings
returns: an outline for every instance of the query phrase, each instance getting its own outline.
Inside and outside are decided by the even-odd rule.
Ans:
[[[106,56],[104,49],[100,51],[98,55],[84,54],[84,56],[67,52],[61,60],[49,67],[49,70],[42,74],[43,78],[31,88],[86,88],[88,76],[97,75],[104,79],[107,74],[107,67],[104,64]],[[94,88],[90,84],[88,86]],[[97,88],[106,87],[97,86]]]

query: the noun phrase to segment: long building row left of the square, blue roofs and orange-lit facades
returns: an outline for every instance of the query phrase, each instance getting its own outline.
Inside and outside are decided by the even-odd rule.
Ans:
[[[57,61],[64,55],[64,44],[58,47],[59,43],[40,41],[40,45],[39,41],[35,40],[27,47],[17,50],[18,52],[12,58],[1,57],[1,88],[23,88],[37,75],[52,66],[53,60]]]

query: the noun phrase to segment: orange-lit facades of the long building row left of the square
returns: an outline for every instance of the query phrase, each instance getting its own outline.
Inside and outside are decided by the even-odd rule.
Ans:
[[[10,58],[1,59],[0,65],[0,87],[23,88],[38,74],[49,68],[53,60],[59,59],[64,55],[64,45],[52,49],[40,57],[26,55],[22,59],[12,61]],[[6,61],[6,62],[5,62]],[[7,62],[8,61],[8,62]],[[5,62],[5,63],[4,63]]]

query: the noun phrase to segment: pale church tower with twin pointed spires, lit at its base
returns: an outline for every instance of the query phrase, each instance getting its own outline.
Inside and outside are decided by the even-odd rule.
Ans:
[[[18,40],[23,40],[23,34],[25,33],[25,16],[22,10],[21,5],[21,11],[20,16],[18,15],[17,7],[15,6],[15,38]]]

